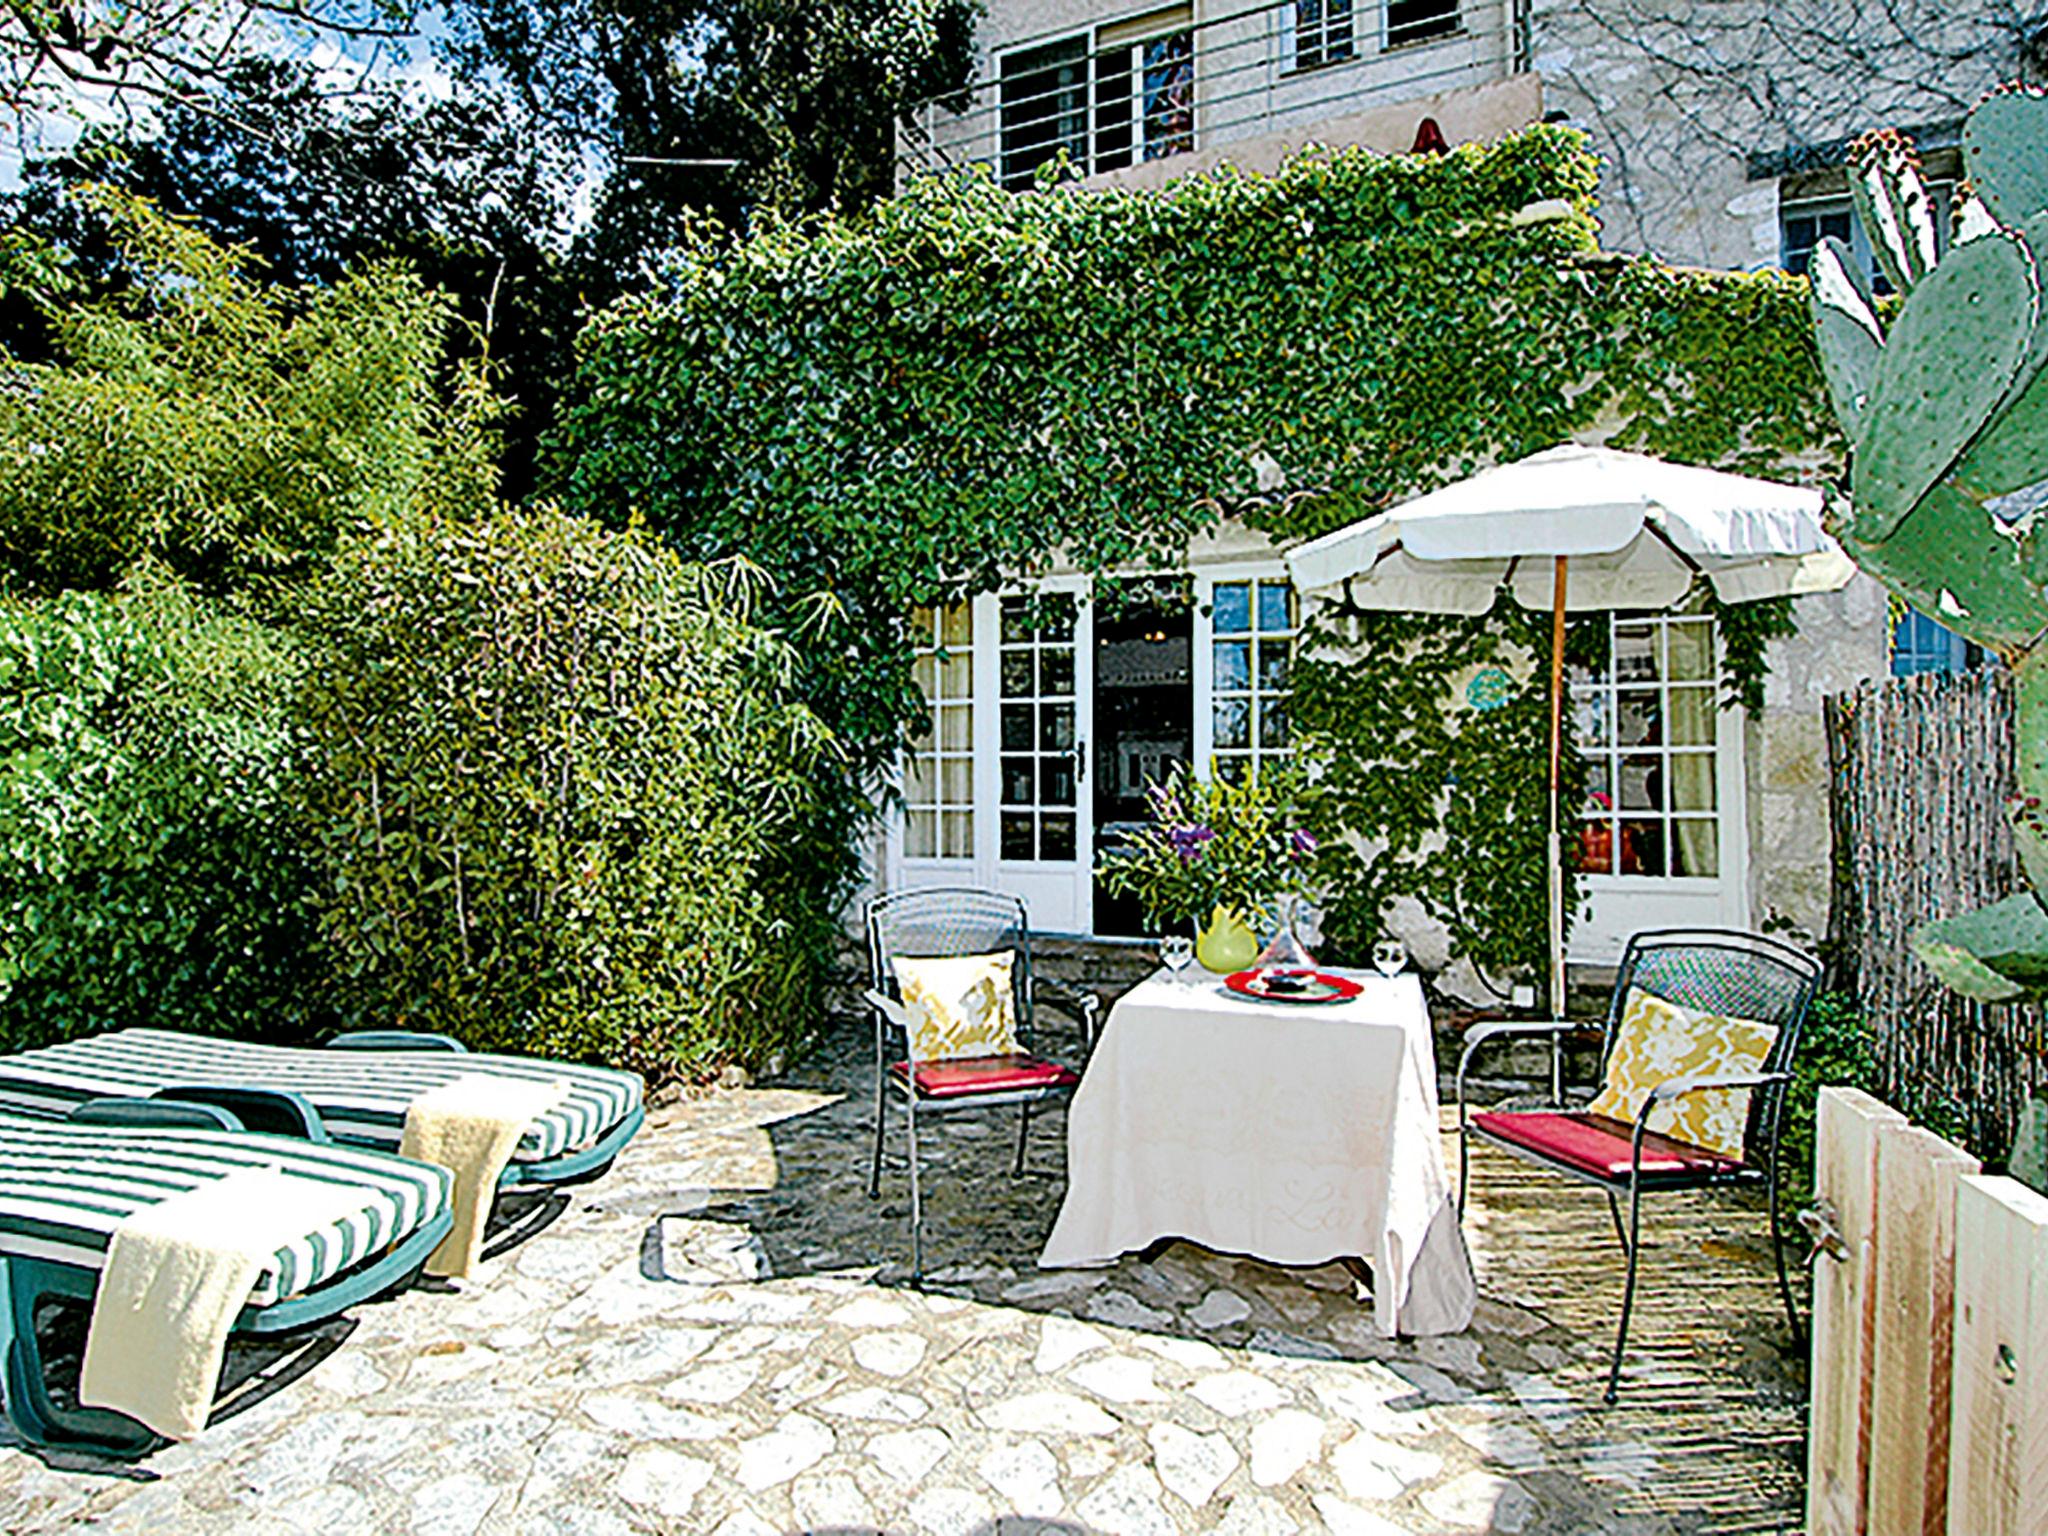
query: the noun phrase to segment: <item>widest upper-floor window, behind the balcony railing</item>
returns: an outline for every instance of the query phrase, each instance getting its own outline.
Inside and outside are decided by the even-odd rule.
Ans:
[[[1028,190],[1063,152],[1075,174],[1092,176],[1194,150],[1190,18],[1176,6],[1006,53],[1004,186]]]

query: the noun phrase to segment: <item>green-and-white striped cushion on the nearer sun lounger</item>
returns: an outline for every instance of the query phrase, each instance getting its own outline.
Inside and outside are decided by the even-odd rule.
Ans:
[[[240,1167],[354,1184],[362,1208],[287,1243],[250,1300],[268,1307],[381,1255],[449,1204],[430,1163],[227,1130],[168,1130],[0,1112],[0,1253],[98,1270],[127,1217]]]

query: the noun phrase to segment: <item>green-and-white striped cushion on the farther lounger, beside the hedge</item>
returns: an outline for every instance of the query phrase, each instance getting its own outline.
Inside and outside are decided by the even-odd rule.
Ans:
[[[559,1157],[598,1141],[641,1102],[641,1079],[608,1067],[453,1051],[307,1051],[174,1030],[115,1030],[0,1057],[0,1108],[70,1114],[92,1098],[150,1098],[160,1087],[233,1083],[303,1094],[340,1141],[399,1145],[406,1106],[455,1077],[563,1079],[569,1098],[532,1122],[514,1157]]]

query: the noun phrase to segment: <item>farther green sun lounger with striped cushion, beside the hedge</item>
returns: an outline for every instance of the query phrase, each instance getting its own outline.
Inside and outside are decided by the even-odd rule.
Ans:
[[[375,1030],[338,1036],[322,1049],[250,1044],[174,1030],[113,1030],[82,1040],[0,1057],[0,1108],[63,1116],[96,1098],[172,1094],[227,1104],[233,1090],[266,1090],[262,1116],[281,1096],[309,1106],[301,1135],[397,1151],[406,1108],[430,1087],[457,1077],[504,1077],[518,1083],[567,1083],[567,1096],[520,1137],[500,1188],[580,1184],[610,1167],[639,1130],[641,1079],[608,1067],[580,1067],[541,1057],[463,1051],[436,1034]],[[268,1120],[244,1116],[252,1128]],[[285,1128],[285,1126],[276,1126]]]

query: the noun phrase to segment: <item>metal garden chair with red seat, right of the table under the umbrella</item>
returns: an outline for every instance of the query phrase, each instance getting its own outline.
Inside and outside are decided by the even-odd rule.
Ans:
[[[1786,1276],[1784,1237],[1778,1231],[1778,1133],[1784,1118],[1786,1085],[1792,1081],[1792,1061],[1798,1053],[1800,1028],[1819,989],[1821,965],[1802,950],[1761,934],[1741,934],[1712,928],[1659,930],[1636,934],[1622,954],[1608,1001],[1606,1038],[1599,1067],[1606,1075],[1614,1055],[1630,987],[1640,987],[1665,1001],[1724,1018],[1749,1018],[1776,1026],[1778,1038],[1755,1073],[1722,1077],[1671,1077],[1655,1085],[1636,1122],[1624,1124],[1597,1114],[1567,1110],[1563,1073],[1559,1069],[1563,1036],[1573,1028],[1561,1020],[1477,1024],[1464,1034],[1464,1055],[1458,1059],[1458,1210],[1464,1210],[1464,1186],[1470,1139],[1501,1147],[1526,1161],[1554,1169],[1567,1178],[1593,1184],[1608,1196],[1614,1235],[1628,1253],[1628,1280],[1622,1288],[1622,1321],[1614,1335],[1614,1362],[1608,1368],[1606,1401],[1612,1403],[1622,1378],[1622,1354],[1628,1348],[1628,1317],[1636,1300],[1636,1257],[1640,1251],[1640,1206],[1645,1194],[1667,1190],[1706,1190],[1720,1186],[1763,1186],[1769,1196],[1772,1251],[1778,1260],[1778,1294],[1784,1298],[1792,1337],[1798,1341],[1798,1309]],[[1516,1102],[1470,1114],[1464,1081],[1473,1057],[1487,1044],[1513,1036],[1550,1036],[1550,1104],[1528,1110]],[[1651,1110],[1686,1094],[1718,1087],[1749,1090],[1749,1120],[1743,1135],[1743,1157],[1733,1159],[1704,1147],[1694,1147],[1649,1128]],[[1620,1198],[1628,1196],[1628,1225],[1622,1227]]]

